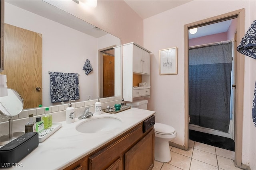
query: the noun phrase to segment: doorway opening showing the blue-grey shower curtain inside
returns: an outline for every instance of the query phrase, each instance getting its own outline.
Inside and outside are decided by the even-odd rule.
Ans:
[[[189,137],[234,151],[236,18],[195,29],[188,34]]]

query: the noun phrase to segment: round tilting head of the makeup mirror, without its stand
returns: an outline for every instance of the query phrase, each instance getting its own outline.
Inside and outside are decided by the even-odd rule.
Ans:
[[[7,93],[7,96],[0,97],[0,113],[3,119],[14,117],[23,109],[23,100],[20,94],[10,88],[7,89]]]

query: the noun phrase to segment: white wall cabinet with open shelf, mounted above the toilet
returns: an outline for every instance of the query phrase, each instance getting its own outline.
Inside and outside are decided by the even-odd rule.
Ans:
[[[140,96],[150,96],[150,51],[132,42],[123,45],[123,98],[132,102]],[[138,87],[146,82],[147,87]]]

